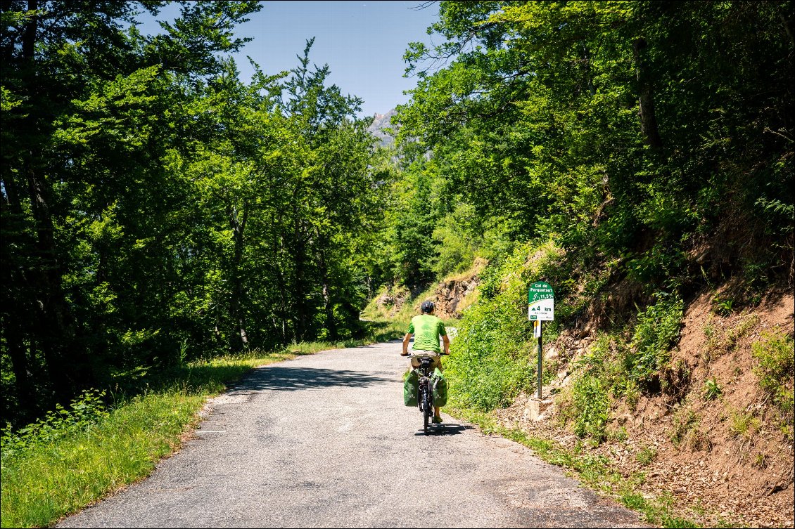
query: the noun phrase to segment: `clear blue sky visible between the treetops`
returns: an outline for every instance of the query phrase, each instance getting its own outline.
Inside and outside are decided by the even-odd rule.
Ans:
[[[431,43],[425,29],[436,21],[436,4],[418,9],[421,0],[262,3],[262,10],[237,27],[237,37],[254,38],[235,54],[242,79],[249,80],[253,71],[246,56],[266,74],[275,74],[295,68],[307,39],[315,37],[309,60],[318,66],[328,64],[328,83],[336,84],[343,94],[364,99],[363,115],[386,114],[409,101],[403,92],[417,79],[403,77],[403,53],[409,42]],[[177,9],[166,8],[157,18],[169,20],[176,14]],[[142,33],[161,31],[151,17],[140,19]]]

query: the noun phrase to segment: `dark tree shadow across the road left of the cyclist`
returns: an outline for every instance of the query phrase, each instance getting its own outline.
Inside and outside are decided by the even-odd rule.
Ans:
[[[257,369],[246,379],[241,380],[235,391],[250,391],[258,389],[275,389],[281,391],[296,391],[299,389],[330,388],[332,386],[345,386],[346,388],[365,388],[372,384],[394,382],[394,378],[373,376],[356,371],[294,368],[281,365],[272,365]]]

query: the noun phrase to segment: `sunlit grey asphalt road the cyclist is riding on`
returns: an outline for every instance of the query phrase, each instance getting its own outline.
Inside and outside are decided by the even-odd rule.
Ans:
[[[256,369],[146,480],[56,527],[638,527],[531,450],[404,407],[399,342]]]

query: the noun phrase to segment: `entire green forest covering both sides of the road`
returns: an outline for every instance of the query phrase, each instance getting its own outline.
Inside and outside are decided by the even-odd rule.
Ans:
[[[537,277],[564,299],[553,332],[681,319],[714,284],[735,307],[793,288],[792,2],[433,3],[441,44],[407,44],[390,148],[311,38],[292,70],[240,79],[259,2],[183,2],[139,33],[164,4],[2,2],[3,424],[358,336],[380,288],[475,259],[451,376],[483,409],[532,383],[515,357]],[[638,340],[627,369],[653,390],[665,366]],[[494,355],[514,361],[475,362]]]

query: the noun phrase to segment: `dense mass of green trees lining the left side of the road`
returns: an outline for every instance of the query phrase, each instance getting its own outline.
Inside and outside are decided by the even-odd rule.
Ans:
[[[38,6],[29,32],[12,2],[0,43],[0,417],[208,351],[363,338],[395,170],[312,41],[244,83],[224,56],[258,2],[186,2],[153,37],[134,4]]]

